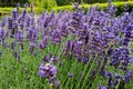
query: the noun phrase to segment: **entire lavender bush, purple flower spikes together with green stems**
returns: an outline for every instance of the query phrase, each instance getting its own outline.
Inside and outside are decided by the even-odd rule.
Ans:
[[[74,3],[40,16],[27,6],[0,22],[1,89],[133,89],[129,3],[119,17],[111,1],[105,11]]]

